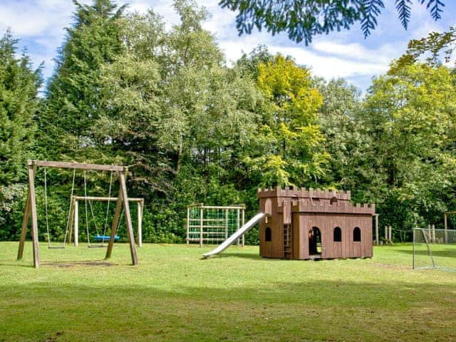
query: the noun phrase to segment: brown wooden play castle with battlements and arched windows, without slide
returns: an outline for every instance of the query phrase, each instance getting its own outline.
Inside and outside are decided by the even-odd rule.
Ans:
[[[350,192],[258,190],[261,257],[334,259],[372,257],[375,204],[352,204]]]

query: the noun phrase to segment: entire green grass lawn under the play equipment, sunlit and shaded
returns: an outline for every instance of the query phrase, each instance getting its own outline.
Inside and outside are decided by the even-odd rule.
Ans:
[[[0,341],[456,341],[456,273],[413,271],[410,244],[326,261],[145,244],[139,266],[116,244],[90,266],[105,249],[41,243],[40,269],[17,247],[0,243]]]

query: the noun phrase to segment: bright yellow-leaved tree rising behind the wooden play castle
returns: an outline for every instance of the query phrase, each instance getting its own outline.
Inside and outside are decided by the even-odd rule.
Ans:
[[[313,185],[325,173],[328,154],[317,116],[323,99],[309,69],[281,55],[258,68],[257,86],[265,98],[261,155],[249,161],[261,172],[262,185]]]

